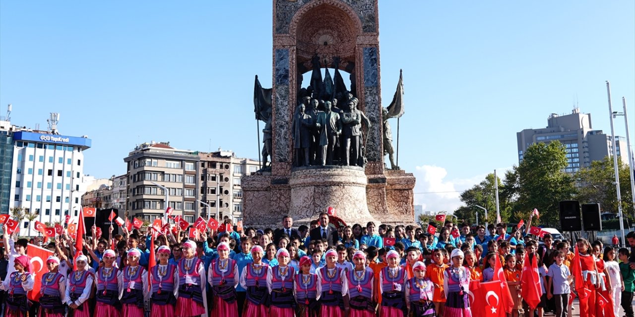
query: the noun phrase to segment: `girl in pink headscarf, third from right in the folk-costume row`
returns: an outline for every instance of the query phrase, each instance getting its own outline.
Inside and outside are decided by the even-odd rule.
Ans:
[[[382,293],[380,317],[403,317],[408,311],[404,298],[406,271],[399,266],[399,253],[390,250],[386,254],[388,266],[379,273],[379,285]]]

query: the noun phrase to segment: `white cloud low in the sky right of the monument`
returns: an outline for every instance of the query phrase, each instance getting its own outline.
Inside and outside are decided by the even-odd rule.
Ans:
[[[502,179],[505,171],[511,167],[497,169],[498,178]],[[493,171],[491,171],[493,172]],[[462,205],[460,194],[481,183],[490,172],[485,172],[469,178],[446,179],[448,171],[436,165],[422,165],[415,167],[415,205],[422,205],[424,211],[439,212],[446,210],[453,212]]]

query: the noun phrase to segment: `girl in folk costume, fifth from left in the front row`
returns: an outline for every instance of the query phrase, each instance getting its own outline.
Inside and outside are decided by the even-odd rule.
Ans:
[[[144,317],[144,299],[148,297],[148,272],[139,265],[141,252],[128,250],[128,266],[119,275],[119,300],[123,304],[122,316]]]

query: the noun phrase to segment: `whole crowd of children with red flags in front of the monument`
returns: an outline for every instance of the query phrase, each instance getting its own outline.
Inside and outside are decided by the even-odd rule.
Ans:
[[[545,311],[563,317],[571,316],[572,272],[579,263],[588,292],[580,316],[615,317],[621,305],[634,317],[635,263],[628,249],[603,249],[585,239],[572,248],[549,234],[538,242],[519,229],[507,234],[503,223],[478,226],[472,234],[467,224],[445,221],[438,235],[412,225],[355,224],[338,228],[337,243],[311,240],[309,230],[319,226],[328,223],[314,221],[292,235],[245,228],[197,238],[178,229],[156,237],[124,229],[112,236],[112,228],[100,237],[93,227],[83,250],[65,234],[45,245],[55,256],[46,259],[42,276],[32,273],[27,240],[4,236],[4,316],[471,317],[483,316],[471,311],[471,281],[502,275],[510,317]],[[528,267],[539,277],[542,297],[535,305],[521,296]],[[35,279],[41,280],[40,297],[32,302],[27,292]]]

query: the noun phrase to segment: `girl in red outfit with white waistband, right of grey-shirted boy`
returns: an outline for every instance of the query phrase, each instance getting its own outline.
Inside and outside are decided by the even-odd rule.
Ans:
[[[587,298],[580,301],[580,316],[595,316],[596,289],[600,287],[598,281],[598,268],[592,254],[591,243],[584,238],[576,242],[580,257],[573,259],[573,263],[580,262],[582,267],[582,280],[587,288]],[[575,266],[574,266],[575,267]]]

